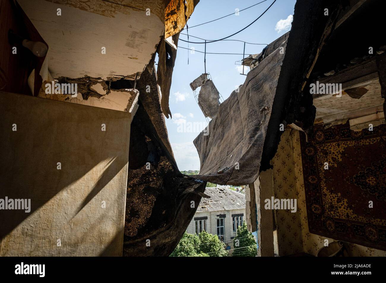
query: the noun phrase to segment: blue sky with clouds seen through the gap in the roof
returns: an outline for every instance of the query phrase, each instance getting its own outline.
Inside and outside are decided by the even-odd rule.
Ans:
[[[235,9],[242,10],[262,0],[201,0],[188,20],[188,25],[198,25],[216,18],[234,13]],[[189,35],[203,39],[215,40],[226,37],[249,25],[266,10],[273,0],[267,0],[259,5],[230,15],[221,20],[189,28]],[[273,6],[255,23],[242,32],[230,37],[251,43],[269,44],[290,29],[291,16],[296,0],[277,0]],[[279,23],[278,23],[279,22]],[[276,29],[275,29],[276,28]],[[186,33],[184,30],[182,33]],[[180,35],[187,40],[186,35]],[[201,41],[189,37],[190,41]],[[188,48],[188,43],[179,40],[179,47]],[[261,52],[265,45],[245,45],[245,57]],[[204,44],[189,44],[189,48],[204,51]],[[244,43],[236,41],[219,41],[207,44],[207,52],[243,53]],[[188,65],[189,54],[189,65]],[[245,75],[240,75],[240,67],[235,61],[241,60],[242,55],[207,54],[207,72],[223,99],[227,99],[231,92],[245,81]],[[242,67],[241,67],[242,68]],[[245,71],[247,72],[247,68]],[[204,73],[204,54],[190,50],[178,49],[174,65],[173,79],[170,90],[169,105],[173,119],[166,119],[169,140],[173,148],[179,170],[199,170],[200,159],[193,145],[193,140],[206,126],[206,119],[196,103],[189,86],[196,77]],[[199,89],[198,89],[199,90]],[[198,93],[198,92],[197,92]],[[184,124],[186,125],[184,129]],[[194,123],[194,124],[193,124]],[[196,129],[191,130],[190,126]]]

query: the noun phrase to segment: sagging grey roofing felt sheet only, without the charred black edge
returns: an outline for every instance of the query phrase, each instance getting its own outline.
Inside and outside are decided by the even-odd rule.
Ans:
[[[286,42],[282,47],[285,49]],[[234,185],[253,183],[257,179],[256,166],[260,162],[283,58],[284,54],[277,49],[252,69],[240,91],[234,90],[220,104],[217,116],[207,127],[209,134],[200,133],[194,140],[203,175],[199,178]],[[234,169],[237,162],[239,170]]]

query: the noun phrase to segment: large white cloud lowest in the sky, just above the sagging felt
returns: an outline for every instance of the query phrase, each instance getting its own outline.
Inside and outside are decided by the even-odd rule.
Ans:
[[[193,142],[172,143],[171,147],[180,170],[200,169],[200,158]]]

